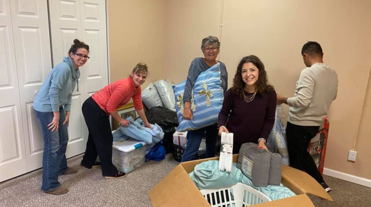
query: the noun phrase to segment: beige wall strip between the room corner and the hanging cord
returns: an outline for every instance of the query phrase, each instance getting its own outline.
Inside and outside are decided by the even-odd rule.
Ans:
[[[167,0],[165,77],[185,80],[190,62],[203,56],[202,38],[220,36],[222,0]]]

